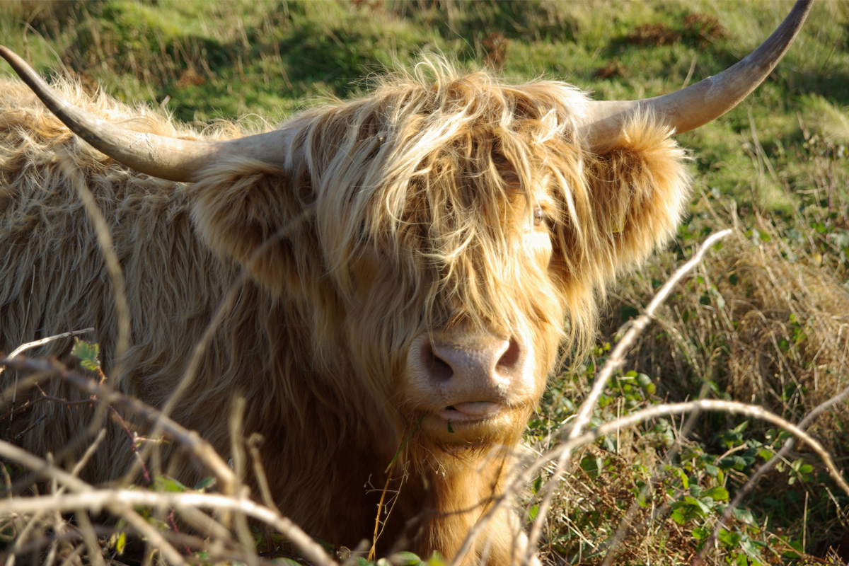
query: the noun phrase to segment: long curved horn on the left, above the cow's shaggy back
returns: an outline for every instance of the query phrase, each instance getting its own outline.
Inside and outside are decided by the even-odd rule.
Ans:
[[[226,142],[133,132],[70,104],[8,48],[0,46],[0,56],[65,126],[104,154],[136,171],[169,181],[188,182],[193,181],[205,165],[222,155],[244,155],[272,165],[284,163],[284,132],[267,132]]]

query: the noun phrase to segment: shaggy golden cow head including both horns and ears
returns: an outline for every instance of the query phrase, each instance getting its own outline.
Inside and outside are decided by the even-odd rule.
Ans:
[[[517,440],[559,345],[587,345],[599,291],[672,232],[687,176],[669,136],[745,98],[808,8],[731,69],[658,98],[594,102],[423,65],[220,143],[98,120],[0,54],[104,153],[194,182],[201,238],[300,305],[319,373],[360,414],[478,446]]]

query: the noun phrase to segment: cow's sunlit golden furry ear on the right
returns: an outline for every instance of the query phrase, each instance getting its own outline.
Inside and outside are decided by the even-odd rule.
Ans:
[[[555,243],[568,283],[604,288],[675,233],[689,200],[687,157],[667,126],[642,115],[584,160]]]

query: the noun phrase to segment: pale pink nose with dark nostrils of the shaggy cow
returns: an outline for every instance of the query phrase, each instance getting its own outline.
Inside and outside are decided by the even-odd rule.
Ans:
[[[516,377],[524,358],[516,339],[495,337],[459,342],[424,340],[421,355],[422,366],[434,384],[450,383],[450,389],[465,390],[468,394],[479,391],[481,399],[476,401],[500,396],[498,389]]]

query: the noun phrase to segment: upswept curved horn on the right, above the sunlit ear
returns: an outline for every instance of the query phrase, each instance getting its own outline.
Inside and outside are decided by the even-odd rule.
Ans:
[[[733,109],[762,83],[799,33],[812,0],[798,0],[778,29],[759,48],[717,76],[691,87],[643,100],[598,100],[590,103],[582,123],[591,143],[602,146],[616,141],[622,124],[638,109],[654,109],[676,133],[689,132]]]

